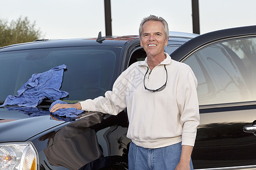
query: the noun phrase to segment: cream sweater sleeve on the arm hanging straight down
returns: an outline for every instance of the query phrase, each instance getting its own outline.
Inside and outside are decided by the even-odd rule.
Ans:
[[[197,79],[188,66],[185,73],[181,73],[183,79],[177,91],[177,101],[180,111],[180,124],[183,126],[182,145],[194,146],[197,126],[200,124],[199,103],[197,99]]]

